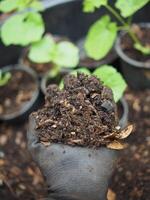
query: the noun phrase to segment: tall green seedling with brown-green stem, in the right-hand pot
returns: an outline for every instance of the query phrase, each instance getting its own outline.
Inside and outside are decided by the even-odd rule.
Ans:
[[[150,0],[116,0],[114,7],[112,7],[108,0],[84,0],[84,12],[94,12],[96,9],[104,7],[119,22],[117,24],[111,21],[109,15],[105,15],[90,27],[85,41],[87,55],[95,60],[104,58],[113,47],[119,30],[127,31],[134,42],[135,49],[142,54],[150,55],[150,47],[144,46],[140,42],[131,24],[133,14],[149,2]]]

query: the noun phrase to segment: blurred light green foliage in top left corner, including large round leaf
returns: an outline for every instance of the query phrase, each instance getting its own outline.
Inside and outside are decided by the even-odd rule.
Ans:
[[[12,0],[10,2],[4,0],[0,4],[0,10],[3,12],[21,11],[10,16],[2,24],[0,32],[4,45],[26,46],[42,37],[45,27],[39,12],[42,10],[39,1]]]

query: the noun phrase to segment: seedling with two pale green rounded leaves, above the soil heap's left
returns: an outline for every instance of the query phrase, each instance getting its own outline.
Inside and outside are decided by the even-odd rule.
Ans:
[[[69,41],[56,42],[51,35],[45,35],[29,49],[28,57],[35,63],[51,62],[55,69],[74,68],[79,62],[79,50]]]

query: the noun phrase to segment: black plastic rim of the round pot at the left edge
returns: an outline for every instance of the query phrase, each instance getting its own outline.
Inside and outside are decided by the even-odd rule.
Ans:
[[[21,74],[21,73],[26,74],[26,77],[29,77],[29,79],[33,81],[34,89],[33,89],[33,92],[31,93],[31,97],[27,100],[24,100],[23,105],[20,106],[19,109],[16,109],[16,110],[14,109],[10,113],[9,112],[0,113],[0,121],[18,122],[18,121],[27,120],[28,115],[32,111],[34,111],[34,109],[37,109],[37,107],[39,105],[39,91],[40,90],[39,90],[39,82],[38,82],[35,72],[32,69],[28,69],[28,68],[20,66],[20,65],[6,66],[2,69],[2,71],[14,73],[14,74],[17,72],[18,74],[17,73],[16,74],[18,77],[20,76],[19,74]],[[12,74],[12,76],[13,76],[13,74]],[[23,81],[23,79],[24,78],[22,76],[22,78],[20,78],[20,80]],[[30,84],[30,82],[25,82],[25,87],[27,87],[29,84]],[[15,87],[17,87],[17,84]],[[18,93],[18,98],[22,98],[21,95],[23,94],[24,90],[23,90],[22,86],[20,86],[19,89],[20,89],[20,94]],[[2,86],[0,87],[0,90],[2,90]],[[28,95],[29,92],[31,92],[31,91],[27,90],[26,94]],[[9,95],[9,91],[5,91],[5,93],[6,93],[5,96],[7,97],[7,95]],[[19,97],[19,95],[20,95],[20,97]],[[2,97],[0,97],[0,98],[2,98]],[[12,96],[12,98],[14,98],[14,97]],[[7,101],[7,99],[6,99],[6,101]],[[11,105],[11,106],[13,107],[14,105]]]

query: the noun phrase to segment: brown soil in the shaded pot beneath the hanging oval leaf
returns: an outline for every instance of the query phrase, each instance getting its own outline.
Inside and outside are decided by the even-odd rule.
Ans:
[[[117,55],[116,55],[116,52],[114,49],[111,49],[110,52],[101,60],[94,60],[92,58],[89,58],[86,55],[86,52],[84,50],[84,42],[85,42],[85,39],[81,39],[77,43],[77,45],[80,49],[79,66],[84,66],[84,67],[88,67],[90,69],[95,69],[96,67],[99,67],[100,65],[103,65],[103,64],[111,64],[117,58]]]

